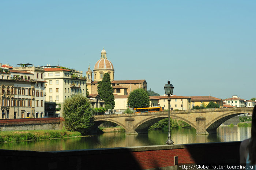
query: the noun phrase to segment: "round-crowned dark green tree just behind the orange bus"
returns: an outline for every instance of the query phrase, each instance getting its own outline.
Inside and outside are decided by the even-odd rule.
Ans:
[[[149,107],[149,97],[146,90],[137,88],[128,96],[128,105],[133,108]]]

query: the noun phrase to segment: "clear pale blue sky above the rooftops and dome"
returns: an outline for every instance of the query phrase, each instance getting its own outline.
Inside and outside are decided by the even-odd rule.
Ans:
[[[86,72],[103,47],[115,80],[145,79],[175,95],[256,97],[256,1],[8,0],[0,63]],[[85,74],[84,74],[85,75]]]

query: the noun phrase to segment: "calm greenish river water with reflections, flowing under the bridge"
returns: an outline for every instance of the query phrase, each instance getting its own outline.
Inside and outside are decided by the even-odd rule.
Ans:
[[[48,139],[0,143],[0,149],[30,151],[61,151],[92,148],[112,148],[128,146],[164,145],[168,130],[151,130],[148,134],[125,135],[124,132],[104,133],[91,137],[72,137],[65,139]],[[241,141],[251,137],[250,127],[219,126],[217,134],[196,135],[196,130],[181,128],[171,130],[174,144],[206,143],[222,141]]]

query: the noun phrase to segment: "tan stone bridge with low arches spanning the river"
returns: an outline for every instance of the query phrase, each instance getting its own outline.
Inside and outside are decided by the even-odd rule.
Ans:
[[[231,117],[252,113],[253,107],[195,109],[171,111],[172,119],[187,122],[196,129],[197,135],[216,133],[217,128]],[[94,116],[94,128],[105,121],[114,122],[125,128],[125,133],[147,133],[154,123],[167,118],[168,112],[127,113]]]

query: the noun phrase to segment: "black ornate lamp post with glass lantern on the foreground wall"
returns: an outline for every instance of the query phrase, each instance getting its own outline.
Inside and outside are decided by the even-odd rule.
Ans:
[[[170,130],[170,95],[173,94],[173,85],[170,84],[170,81],[168,80],[168,84],[165,84],[165,94],[168,95],[168,139],[165,142],[168,145],[173,144],[173,141],[171,139],[171,130]]]

